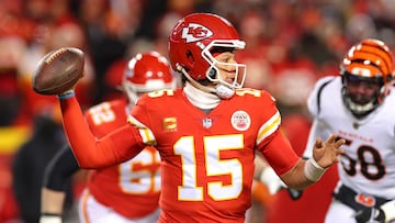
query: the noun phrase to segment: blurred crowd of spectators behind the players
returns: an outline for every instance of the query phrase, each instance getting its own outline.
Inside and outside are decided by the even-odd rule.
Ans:
[[[248,67],[245,87],[276,98],[284,132],[300,155],[309,127],[305,101],[315,80],[338,75],[340,58],[361,38],[395,46],[394,0],[0,0],[0,223],[20,219],[13,185],[21,167],[13,160],[38,134],[43,123],[37,119],[61,126],[56,98],[32,90],[37,62],[63,46],[81,48],[86,74],[77,97],[88,108],[120,93],[125,63],[137,52],[155,49],[167,56],[168,32],[191,12],[217,13],[235,24],[247,43],[237,54]],[[23,168],[24,178],[36,179],[24,183],[42,178],[45,165],[27,163],[49,152],[35,149]],[[40,198],[34,187],[31,193]],[[83,180],[76,178],[76,198],[81,187]],[[271,199],[260,200],[263,209],[270,205]]]

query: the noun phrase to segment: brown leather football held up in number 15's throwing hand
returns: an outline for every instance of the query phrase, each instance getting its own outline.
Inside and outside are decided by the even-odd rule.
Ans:
[[[40,94],[59,94],[71,89],[83,76],[84,54],[63,47],[46,54],[33,73],[32,87]]]

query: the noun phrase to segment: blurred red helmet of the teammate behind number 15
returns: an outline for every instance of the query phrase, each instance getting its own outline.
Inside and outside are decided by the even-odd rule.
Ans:
[[[157,52],[137,54],[126,66],[122,87],[131,101],[136,101],[138,93],[176,88],[176,78],[171,67]]]

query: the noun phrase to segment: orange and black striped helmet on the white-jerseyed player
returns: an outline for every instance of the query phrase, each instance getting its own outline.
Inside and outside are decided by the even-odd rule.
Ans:
[[[342,97],[348,109],[364,115],[377,108],[387,94],[393,73],[393,55],[382,41],[368,38],[353,45],[340,64]],[[373,96],[350,92],[349,86],[362,82],[376,88]]]

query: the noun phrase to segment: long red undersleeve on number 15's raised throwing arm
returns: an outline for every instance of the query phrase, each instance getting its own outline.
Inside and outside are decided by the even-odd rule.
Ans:
[[[95,138],[75,97],[60,100],[60,108],[64,129],[81,168],[120,164],[135,157],[145,146],[138,131],[129,124]]]

